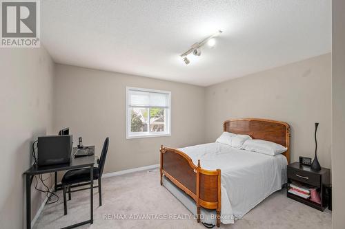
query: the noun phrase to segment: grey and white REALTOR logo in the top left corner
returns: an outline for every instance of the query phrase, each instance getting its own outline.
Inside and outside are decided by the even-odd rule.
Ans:
[[[39,0],[1,1],[1,47],[39,47]]]

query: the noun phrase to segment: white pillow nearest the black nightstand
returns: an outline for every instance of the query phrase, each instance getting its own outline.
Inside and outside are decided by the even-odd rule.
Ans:
[[[265,140],[246,140],[242,145],[242,149],[247,151],[254,151],[257,153],[264,153],[267,155],[277,155],[279,153],[284,153],[287,148],[282,146],[281,144],[277,144],[275,142],[269,142]]]

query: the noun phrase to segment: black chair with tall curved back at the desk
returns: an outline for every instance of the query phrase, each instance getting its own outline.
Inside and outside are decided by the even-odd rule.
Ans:
[[[103,149],[101,153],[101,157],[99,158],[98,167],[93,168],[93,179],[98,179],[98,186],[93,186],[94,188],[98,187],[99,192],[99,206],[102,206],[102,190],[101,190],[101,177],[103,174],[104,164],[106,163],[106,155],[108,152],[109,146],[109,138],[106,138],[103,144]],[[84,184],[80,184],[83,182],[87,182]],[[78,184],[79,183],[79,184]],[[90,184],[90,168],[79,168],[79,169],[72,169],[63,175],[62,180],[62,189],[63,189],[63,208],[64,208],[64,215],[67,215],[67,201],[66,201],[66,193],[68,193],[68,199],[71,199],[71,193],[75,193],[79,190],[86,190],[88,188],[81,188],[77,190],[71,190],[72,184],[78,184],[77,186],[83,186]],[[73,186],[72,186],[73,187]],[[66,190],[68,188],[68,190]]]

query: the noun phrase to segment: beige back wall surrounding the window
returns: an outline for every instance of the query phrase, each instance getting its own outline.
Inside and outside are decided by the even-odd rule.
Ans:
[[[172,92],[172,135],[126,140],[126,86]],[[55,131],[70,127],[74,142],[110,146],[105,173],[159,163],[161,144],[204,142],[204,88],[152,78],[56,65]]]

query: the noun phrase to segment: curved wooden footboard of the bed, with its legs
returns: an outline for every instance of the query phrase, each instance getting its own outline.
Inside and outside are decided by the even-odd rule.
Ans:
[[[217,227],[220,226],[220,169],[208,171],[201,168],[200,160],[198,160],[196,166],[186,153],[161,146],[160,173],[161,185],[163,175],[165,175],[172,183],[195,200],[198,222],[200,222],[200,207],[215,209],[217,212]]]

